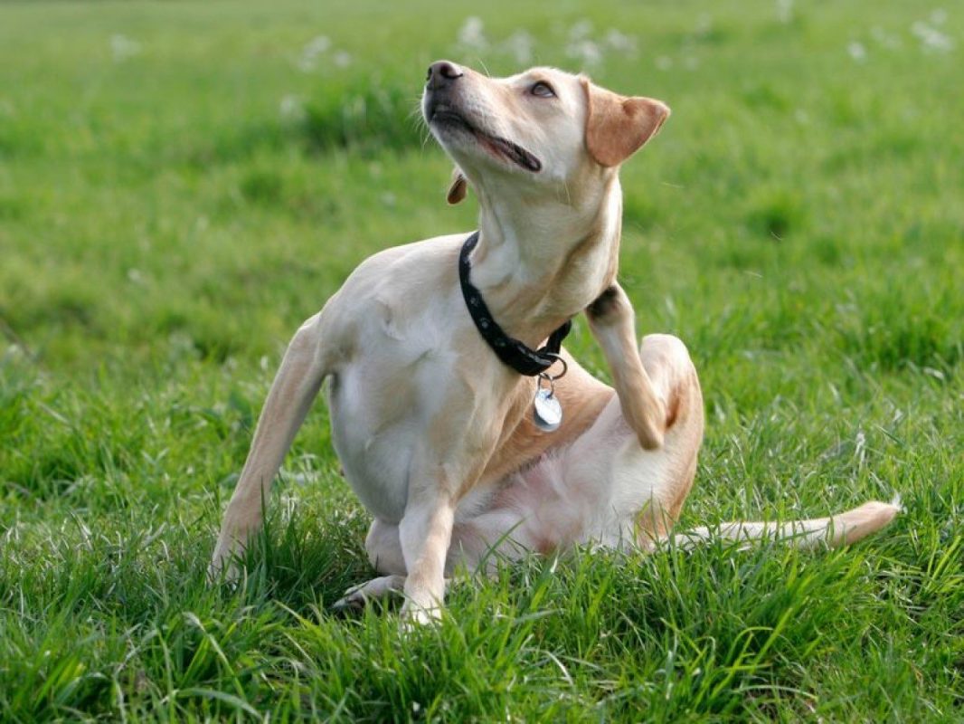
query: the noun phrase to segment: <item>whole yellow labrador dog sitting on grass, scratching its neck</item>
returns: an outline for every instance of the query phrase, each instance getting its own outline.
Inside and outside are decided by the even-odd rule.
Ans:
[[[237,572],[281,459],[330,378],[335,450],[374,516],[365,544],[383,574],[341,603],[402,590],[409,621],[437,617],[446,574],[478,568],[494,548],[512,557],[665,538],[692,485],[704,424],[683,343],[650,335],[637,348],[616,281],[619,167],[669,108],[560,70],[490,78],[442,61],[429,69],[422,111],[457,164],[449,201],[468,183],[479,231],[376,254],[302,325],[211,564],[213,574]],[[613,388],[559,349],[580,313]],[[720,533],[848,543],[896,512],[867,503]]]

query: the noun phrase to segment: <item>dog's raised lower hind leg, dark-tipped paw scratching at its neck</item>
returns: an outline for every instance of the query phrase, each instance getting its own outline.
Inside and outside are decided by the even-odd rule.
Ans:
[[[656,450],[662,446],[666,431],[666,405],[639,358],[629,297],[613,283],[586,308],[586,317],[612,372],[623,416],[643,449]]]

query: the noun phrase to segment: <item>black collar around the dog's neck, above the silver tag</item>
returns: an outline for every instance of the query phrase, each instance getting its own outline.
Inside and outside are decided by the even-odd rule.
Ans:
[[[538,349],[528,348],[502,331],[502,327],[493,319],[492,312],[486,306],[482,293],[469,282],[469,273],[472,269],[469,254],[472,253],[478,240],[479,233],[475,232],[466,239],[466,243],[462,245],[462,253],[459,255],[459,281],[462,283],[462,296],[466,300],[466,306],[469,307],[469,315],[475,322],[475,328],[479,330],[482,339],[489,343],[489,347],[498,358],[520,375],[531,377],[546,372],[555,364],[556,355],[559,354],[559,348],[569,334],[573,321],[566,321],[552,332],[546,346]]]

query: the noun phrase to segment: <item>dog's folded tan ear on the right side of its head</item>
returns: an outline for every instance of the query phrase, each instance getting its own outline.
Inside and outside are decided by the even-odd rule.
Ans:
[[[582,78],[586,91],[586,148],[602,166],[618,166],[656,135],[669,106],[646,97],[626,97]]]

